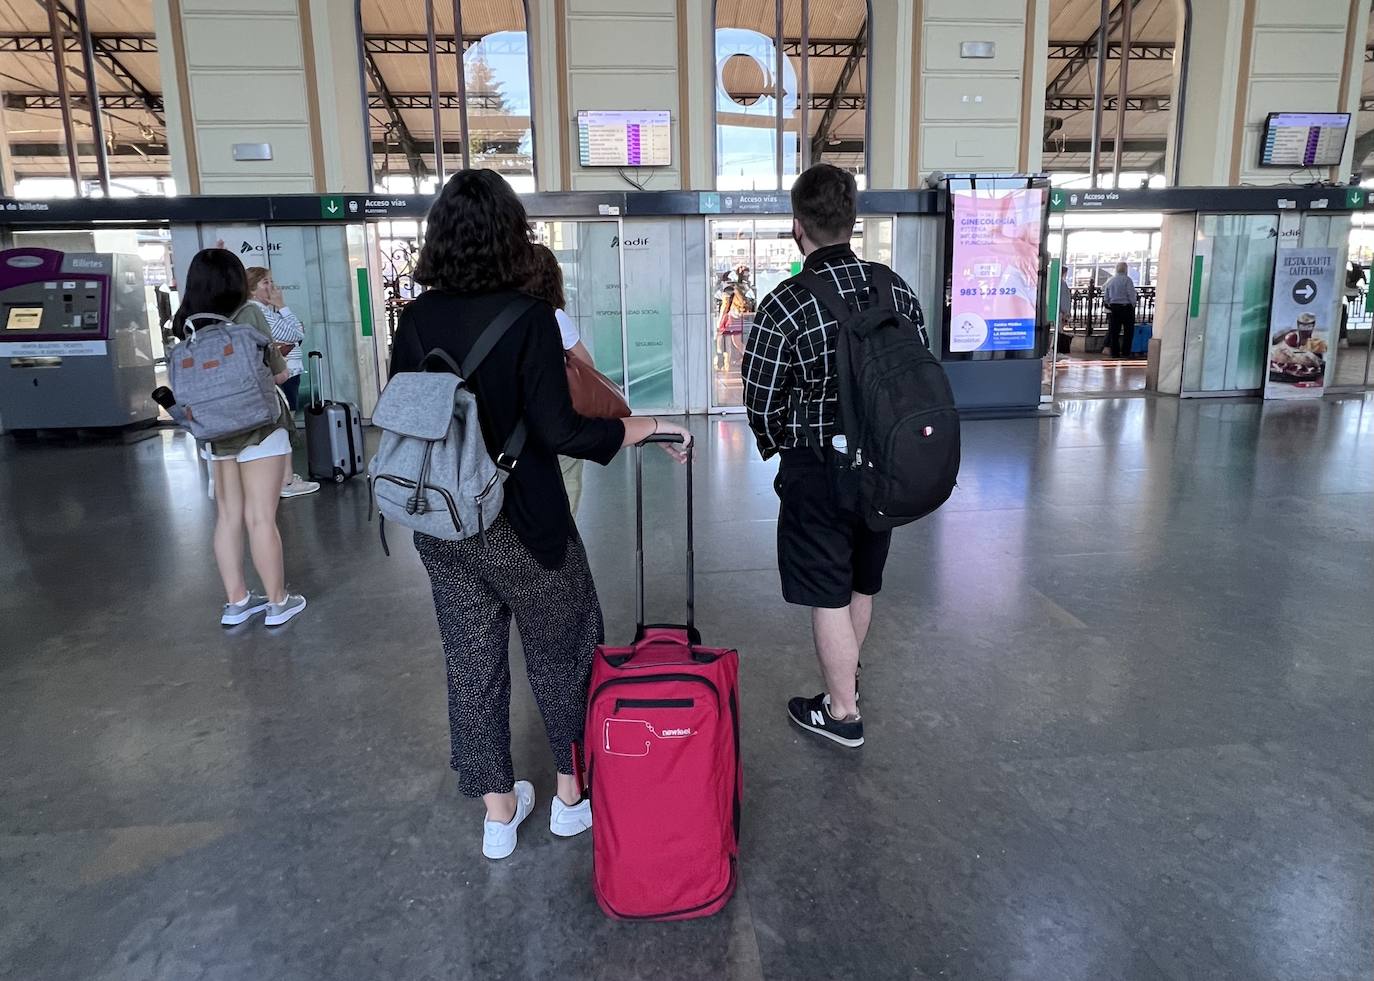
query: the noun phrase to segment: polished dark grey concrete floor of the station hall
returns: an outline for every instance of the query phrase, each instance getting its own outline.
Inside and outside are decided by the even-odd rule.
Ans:
[[[1374,401],[1066,403],[974,422],[955,499],[897,533],[868,743],[778,600],[772,466],[698,420],[701,624],[742,654],[742,888],[606,921],[591,842],[478,852],[408,545],[354,481],[283,507],[311,606],[227,633],[184,438],[0,445],[0,977],[1369,978]],[[680,470],[646,463],[651,613]],[[631,469],[588,475],[609,632],[632,622]],[[397,539],[400,536],[396,536]]]

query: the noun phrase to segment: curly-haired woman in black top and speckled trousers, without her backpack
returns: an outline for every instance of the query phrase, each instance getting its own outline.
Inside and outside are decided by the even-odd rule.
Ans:
[[[510,628],[514,617],[534,699],[556,764],[550,831],[591,827],[591,802],[573,776],[583,736],[592,653],[602,611],[587,566],[558,455],[610,463],[622,447],[686,429],[651,418],[587,419],[573,411],[554,308],[522,293],[536,253],[525,206],[492,170],[459,170],[429,213],[416,282],[430,287],[405,306],[392,372],[416,371],[444,350],[462,364],[507,308],[523,312],[467,379],[493,459],[519,420],[525,448],[506,481],[502,514],[481,537],[444,541],[415,534],[434,594],[448,665],[448,719],[459,790],[482,797],[482,855],[504,859],[534,807],[534,787],[515,780],[510,747]],[[671,447],[677,459],[684,448]]]

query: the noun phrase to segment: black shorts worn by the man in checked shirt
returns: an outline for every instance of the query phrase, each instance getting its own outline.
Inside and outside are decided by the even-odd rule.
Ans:
[[[882,589],[892,532],[874,532],[835,506],[826,466],[809,449],[782,453],[774,481],[782,598],[798,606],[840,609],[851,594]]]

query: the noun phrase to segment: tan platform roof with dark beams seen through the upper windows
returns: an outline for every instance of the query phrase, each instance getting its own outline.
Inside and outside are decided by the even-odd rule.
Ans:
[[[76,23],[74,0],[58,0],[63,27]],[[1113,0],[1113,23],[1124,3],[1132,3],[1132,49],[1128,70],[1124,165],[1131,170],[1162,169],[1164,143],[1172,125],[1169,98],[1173,87],[1173,41],[1178,32],[1175,0]],[[774,32],[774,4],[768,0],[717,0],[720,26]],[[785,49],[796,59],[801,51],[800,0],[785,3]],[[161,98],[159,63],[154,37],[151,0],[99,0],[88,3],[96,47],[96,80],[104,106],[110,166],[114,174],[168,174],[170,172]],[[1087,170],[1092,132],[1095,54],[1099,0],[1052,0],[1047,81],[1047,132],[1044,166],[1048,170]],[[463,0],[463,34],[474,43],[493,32],[519,29],[519,0]],[[453,34],[452,5],[436,4],[436,32]],[[811,136],[818,135],[826,110],[823,139],[844,148],[861,150],[867,100],[864,51],[866,4],[861,0],[811,0],[807,49],[811,100]],[[368,71],[370,117],[374,146],[392,147],[398,124],[429,158],[433,148],[433,114],[429,100],[429,56],[425,40],[423,0],[364,0],[363,26]],[[1114,103],[1120,44],[1110,33],[1103,121],[1105,157],[1116,136]],[[1374,44],[1374,23],[1370,43]],[[19,176],[65,176],[62,115],[44,0],[0,0],[0,93],[4,132]],[[77,143],[82,146],[84,172],[93,176],[91,128],[84,107],[84,76],[74,36],[65,47],[73,100]],[[444,41],[440,41],[444,49]],[[488,48],[496,51],[493,41]],[[495,60],[495,59],[493,59]],[[846,71],[849,62],[857,62]],[[441,126],[449,140],[459,132],[456,58],[452,41],[437,58]],[[768,82],[757,69],[735,59],[723,73],[727,92],[749,104]],[[502,87],[508,89],[510,87]],[[383,95],[385,91],[385,95]],[[1366,55],[1363,89],[1374,106],[1374,62]],[[471,95],[471,93],[470,93]],[[507,95],[514,95],[507,91]],[[385,96],[392,96],[390,99]],[[387,106],[387,102],[393,107]],[[469,120],[475,129],[522,128],[518,98],[489,99],[486,109],[473,100]],[[492,111],[492,107],[496,111]],[[504,106],[504,110],[500,107]],[[482,118],[485,117],[485,118]],[[1356,132],[1374,129],[1374,111],[1362,111]],[[394,148],[394,147],[393,147]]]

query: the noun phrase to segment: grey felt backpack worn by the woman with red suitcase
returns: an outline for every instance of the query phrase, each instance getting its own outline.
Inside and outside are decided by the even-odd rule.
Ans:
[[[525,422],[517,423],[493,460],[464,379],[533,304],[529,297],[513,300],[478,335],[462,365],[434,349],[419,371],[397,372],[386,383],[372,412],[382,442],[367,464],[367,485],[387,555],[387,521],[447,541],[477,534],[486,544],[486,529],[502,511],[502,486],[525,448]]]

